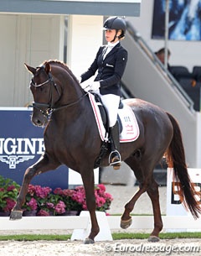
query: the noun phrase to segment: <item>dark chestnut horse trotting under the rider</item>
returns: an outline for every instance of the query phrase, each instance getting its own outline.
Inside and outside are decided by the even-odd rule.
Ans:
[[[22,206],[33,176],[54,170],[59,165],[67,165],[80,173],[85,187],[87,208],[90,212],[91,230],[85,243],[94,243],[99,232],[95,216],[94,166],[100,155],[101,138],[95,123],[87,93],[81,88],[76,77],[64,63],[58,60],[44,61],[39,67],[26,65],[33,74],[30,90],[33,93],[32,122],[36,126],[46,126],[44,131],[45,151],[39,161],[28,167],[11,219],[22,217]],[[139,181],[139,190],[126,203],[121,216],[121,227],[131,225],[131,211],[137,199],[147,191],[152,201],[154,228],[149,241],[158,241],[162,230],[158,185],[153,178],[155,165],[166,154],[168,166],[180,182],[180,196],[193,217],[201,212],[194,199],[185,163],[183,141],[178,123],[168,112],[140,99],[123,101],[135,112],[140,135],[134,142],[121,144],[121,159],[134,171]],[[107,152],[100,166],[108,165]]]

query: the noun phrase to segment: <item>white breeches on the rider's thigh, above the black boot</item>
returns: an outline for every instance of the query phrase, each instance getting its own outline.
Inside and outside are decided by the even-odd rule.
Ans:
[[[95,93],[101,97],[101,101],[106,107],[106,112],[109,118],[109,127],[114,126],[117,120],[120,97],[115,94],[101,95],[99,90],[96,90]]]

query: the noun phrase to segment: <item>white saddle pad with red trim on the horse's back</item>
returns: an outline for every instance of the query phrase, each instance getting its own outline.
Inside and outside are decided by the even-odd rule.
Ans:
[[[90,104],[95,114],[95,121],[99,129],[101,140],[107,140],[106,138],[106,128],[104,127],[101,119],[101,112],[97,103],[95,102],[95,97],[93,94],[89,93]],[[135,141],[140,134],[138,127],[137,119],[134,112],[131,110],[131,107],[124,104],[122,109],[118,110],[119,117],[121,118],[122,123],[122,132],[120,134],[120,142],[132,142]]]

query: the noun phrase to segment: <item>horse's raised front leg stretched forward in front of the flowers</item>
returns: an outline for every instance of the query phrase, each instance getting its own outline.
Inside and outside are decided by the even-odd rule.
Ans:
[[[28,169],[25,171],[25,174],[23,175],[23,184],[20,188],[16,204],[10,214],[11,220],[17,220],[23,217],[22,206],[27,195],[28,185],[30,184],[30,181],[33,179],[33,177],[35,175],[39,175],[40,173],[44,173],[47,170],[54,170],[58,166],[58,163],[53,163],[50,161],[49,157],[44,154],[37,163],[28,167]]]

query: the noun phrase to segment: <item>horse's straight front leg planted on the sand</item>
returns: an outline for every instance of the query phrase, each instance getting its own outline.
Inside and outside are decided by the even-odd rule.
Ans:
[[[82,180],[85,187],[86,206],[90,212],[91,221],[90,235],[88,238],[85,238],[84,243],[95,243],[94,238],[99,233],[100,228],[95,215],[94,170],[84,172],[84,175],[82,175]]]

